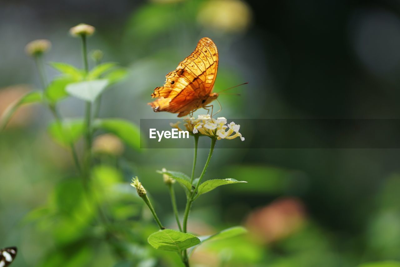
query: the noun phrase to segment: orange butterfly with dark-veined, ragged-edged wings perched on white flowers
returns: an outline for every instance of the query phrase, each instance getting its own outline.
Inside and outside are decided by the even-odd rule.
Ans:
[[[164,86],[154,89],[151,96],[158,99],[148,105],[155,112],[179,113],[178,117],[206,108],[218,97],[218,93],[212,93],[217,70],[217,46],[210,38],[201,38],[193,53],[166,75]]]

